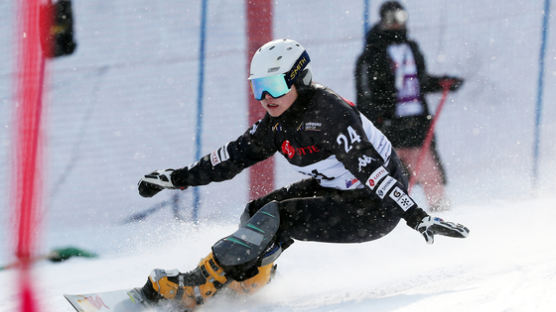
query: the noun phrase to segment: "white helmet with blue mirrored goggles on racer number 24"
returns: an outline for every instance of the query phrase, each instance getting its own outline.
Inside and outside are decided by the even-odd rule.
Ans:
[[[255,98],[262,99],[264,92],[268,92],[273,97],[282,96],[293,84],[310,85],[312,80],[310,62],[305,48],[295,40],[277,39],[265,43],[251,59],[248,79],[251,81]],[[269,81],[269,77],[273,77],[274,81]],[[280,83],[276,81],[278,77],[283,77]],[[285,85],[282,83],[284,81]]]

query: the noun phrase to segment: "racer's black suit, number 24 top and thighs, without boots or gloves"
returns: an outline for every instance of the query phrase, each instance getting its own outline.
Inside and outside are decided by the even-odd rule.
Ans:
[[[313,84],[298,93],[281,116],[266,114],[238,139],[176,170],[174,185],[228,180],[278,151],[308,179],[251,201],[244,217],[276,200],[282,238],[319,242],[374,240],[400,218],[414,228],[426,213],[407,195],[390,141],[332,90]]]

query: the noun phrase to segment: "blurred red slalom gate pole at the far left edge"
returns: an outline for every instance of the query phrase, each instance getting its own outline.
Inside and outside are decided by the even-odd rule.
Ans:
[[[45,77],[45,53],[42,44],[51,25],[51,12],[41,0],[20,0],[16,38],[18,64],[15,70],[16,103],[14,114],[14,149],[11,205],[16,216],[15,255],[21,263],[17,276],[20,311],[38,311],[31,276],[35,236],[38,233],[38,206],[42,186],[42,92]],[[44,38],[43,38],[44,37]],[[41,41],[41,39],[43,39]],[[49,45],[44,45],[48,48]]]

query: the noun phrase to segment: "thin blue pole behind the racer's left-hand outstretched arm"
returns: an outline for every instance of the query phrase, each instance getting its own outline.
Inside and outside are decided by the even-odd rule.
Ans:
[[[197,88],[197,122],[195,125],[195,160],[201,158],[202,148],[202,132],[203,132],[203,92],[205,80],[205,42],[206,42],[206,27],[207,27],[207,2],[201,2],[201,31],[199,38],[199,78]],[[193,188],[193,222],[199,222],[199,203],[201,195],[199,188]]]

